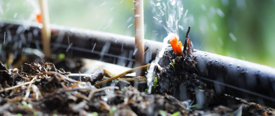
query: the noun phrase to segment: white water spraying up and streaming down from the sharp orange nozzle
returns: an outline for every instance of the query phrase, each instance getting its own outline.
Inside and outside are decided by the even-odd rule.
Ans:
[[[157,24],[160,24],[166,30],[168,35],[163,39],[163,46],[160,52],[157,53],[155,60],[151,62],[151,66],[149,67],[146,76],[149,94],[151,93],[153,79],[155,77],[155,66],[164,55],[165,48],[168,44],[167,41],[173,37],[173,35],[178,35],[178,27],[182,27],[178,24],[184,10],[182,3],[179,0],[167,0],[167,3],[160,2],[160,0],[157,0],[157,3],[153,0],[150,1],[153,10],[156,13],[156,16],[153,18]],[[163,21],[164,18],[165,23]]]

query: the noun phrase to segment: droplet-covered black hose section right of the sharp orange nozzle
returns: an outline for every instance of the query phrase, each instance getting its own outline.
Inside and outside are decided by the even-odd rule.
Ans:
[[[193,54],[203,80],[217,94],[229,94],[275,108],[275,69],[203,51]]]

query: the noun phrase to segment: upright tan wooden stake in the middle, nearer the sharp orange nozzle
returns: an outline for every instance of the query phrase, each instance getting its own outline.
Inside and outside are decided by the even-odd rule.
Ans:
[[[135,67],[144,65],[144,19],[143,0],[135,0]],[[136,76],[143,76],[142,70],[137,71]]]

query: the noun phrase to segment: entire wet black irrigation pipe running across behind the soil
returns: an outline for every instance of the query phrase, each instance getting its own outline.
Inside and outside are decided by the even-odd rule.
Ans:
[[[3,42],[6,34],[6,43],[25,39],[23,46],[41,48],[38,24],[25,27],[22,23],[0,22],[0,42]],[[134,67],[134,37],[55,25],[51,25],[51,28],[54,30],[51,37],[54,54],[65,53],[67,57],[83,57]],[[72,43],[70,48],[68,42]],[[106,43],[109,43],[108,46]],[[151,40],[145,40],[144,44],[145,63],[148,64],[163,44]],[[105,50],[105,47],[109,49]],[[199,50],[194,50],[192,56],[202,79],[212,83],[217,94],[228,94],[275,108],[274,68]],[[160,65],[165,66],[167,62],[161,61]]]

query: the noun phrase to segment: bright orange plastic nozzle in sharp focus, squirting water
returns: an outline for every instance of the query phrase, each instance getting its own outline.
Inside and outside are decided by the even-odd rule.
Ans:
[[[182,52],[182,44],[181,41],[178,41],[178,36],[174,35],[169,39],[169,42],[175,52],[175,54],[179,54]]]

